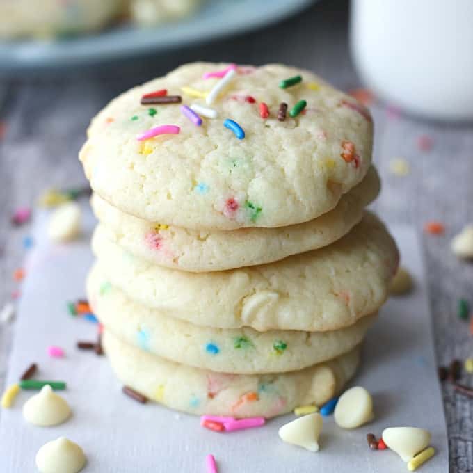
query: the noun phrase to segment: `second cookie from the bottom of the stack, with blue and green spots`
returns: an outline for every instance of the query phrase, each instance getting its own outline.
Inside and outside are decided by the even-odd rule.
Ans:
[[[106,330],[167,360],[225,373],[280,373],[330,360],[360,344],[376,319],[366,316],[330,332],[202,327],[162,316],[103,282],[99,268],[93,268],[88,300]]]

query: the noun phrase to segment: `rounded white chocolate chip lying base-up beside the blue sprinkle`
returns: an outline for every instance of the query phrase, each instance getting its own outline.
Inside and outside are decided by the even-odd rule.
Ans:
[[[355,386],[340,396],[335,412],[335,422],[342,428],[357,428],[373,419],[373,399],[364,387]]]

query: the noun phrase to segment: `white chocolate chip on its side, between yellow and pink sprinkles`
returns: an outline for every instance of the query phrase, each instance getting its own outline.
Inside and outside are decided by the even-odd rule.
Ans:
[[[304,447],[310,451],[319,451],[319,435],[322,430],[322,416],[314,414],[303,415],[279,429],[279,436],[284,442]]]

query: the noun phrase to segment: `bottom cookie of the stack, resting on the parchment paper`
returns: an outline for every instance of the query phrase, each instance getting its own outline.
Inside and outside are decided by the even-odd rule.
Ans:
[[[323,404],[342,390],[360,361],[357,347],[329,362],[284,374],[223,374],[188,367],[125,344],[109,331],[103,346],[118,379],[169,408],[195,415],[274,417]]]

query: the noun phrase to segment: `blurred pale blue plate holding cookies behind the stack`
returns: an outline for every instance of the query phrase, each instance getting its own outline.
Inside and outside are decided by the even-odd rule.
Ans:
[[[297,13],[313,1],[209,0],[193,17],[154,29],[124,24],[76,38],[4,42],[0,45],[0,70],[83,65],[165,51],[266,26]]]

